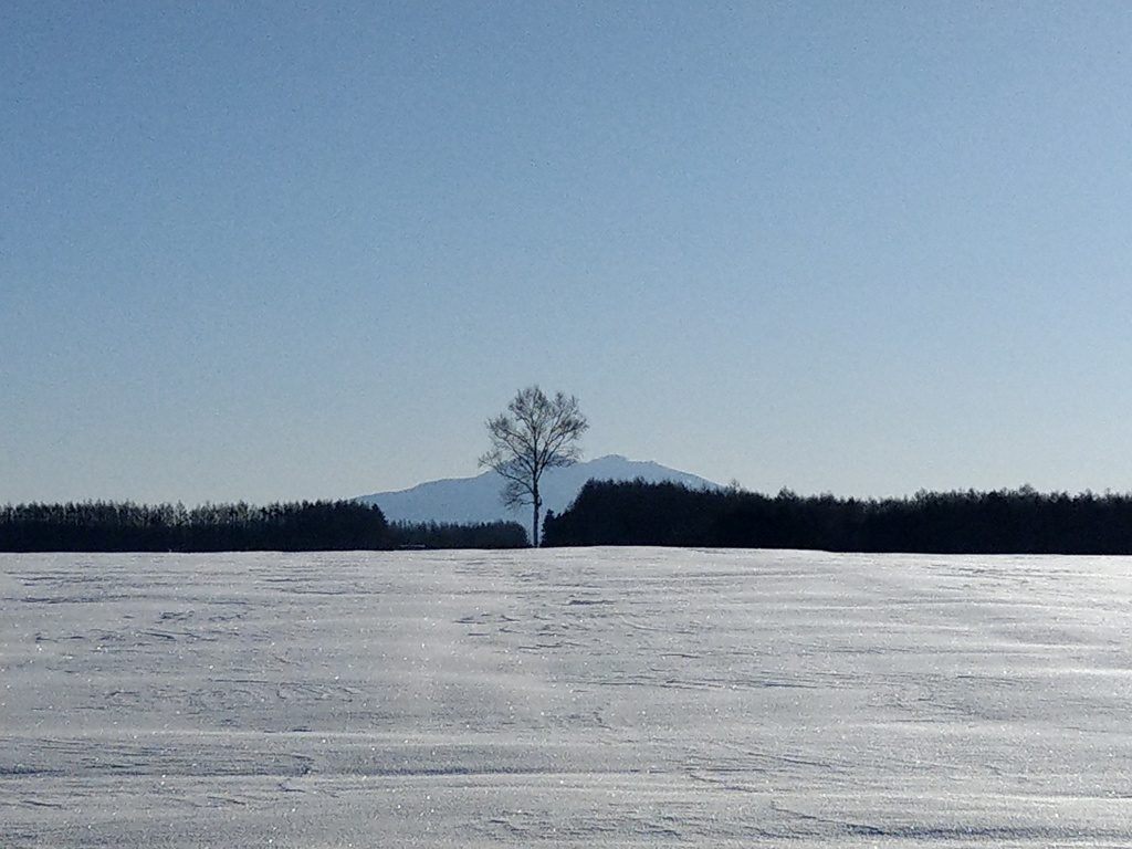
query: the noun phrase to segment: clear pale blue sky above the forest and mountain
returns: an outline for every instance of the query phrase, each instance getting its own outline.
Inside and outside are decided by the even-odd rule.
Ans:
[[[1126,2],[0,9],[0,504],[1132,489]]]

